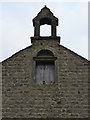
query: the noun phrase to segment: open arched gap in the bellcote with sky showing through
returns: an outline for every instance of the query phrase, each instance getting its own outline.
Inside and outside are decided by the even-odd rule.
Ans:
[[[40,36],[51,36],[51,26],[41,25],[40,26]]]

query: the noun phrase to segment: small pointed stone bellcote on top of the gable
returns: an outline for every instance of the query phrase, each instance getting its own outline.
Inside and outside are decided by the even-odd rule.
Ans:
[[[51,26],[51,36],[40,36],[40,26],[41,25]],[[31,37],[31,42],[36,39],[58,39],[60,42],[60,37],[57,37],[58,18],[56,18],[47,6],[41,9],[37,16],[33,19],[34,26],[34,37]]]

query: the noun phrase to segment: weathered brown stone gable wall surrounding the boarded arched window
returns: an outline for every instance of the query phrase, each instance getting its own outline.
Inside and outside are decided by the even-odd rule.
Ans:
[[[39,42],[2,63],[3,117],[88,117],[88,61],[61,45]],[[54,84],[35,83],[33,57],[42,49],[57,56]]]

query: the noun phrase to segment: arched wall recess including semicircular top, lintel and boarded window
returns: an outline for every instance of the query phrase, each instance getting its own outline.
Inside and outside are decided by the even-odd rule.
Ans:
[[[36,82],[52,84],[55,82],[55,57],[49,50],[41,50],[36,57]]]

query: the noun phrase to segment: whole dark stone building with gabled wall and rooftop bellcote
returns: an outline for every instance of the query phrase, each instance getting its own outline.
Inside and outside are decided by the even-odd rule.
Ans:
[[[44,24],[51,36],[40,36]],[[60,45],[46,6],[33,26],[32,45],[2,62],[2,119],[88,118],[89,61]]]

